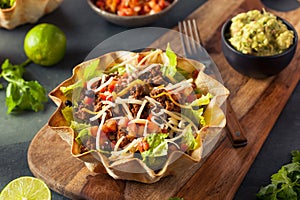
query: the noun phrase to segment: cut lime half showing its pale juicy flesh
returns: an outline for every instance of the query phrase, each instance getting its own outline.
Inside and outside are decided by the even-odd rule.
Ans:
[[[4,187],[0,200],[51,200],[51,192],[42,180],[22,176]]]

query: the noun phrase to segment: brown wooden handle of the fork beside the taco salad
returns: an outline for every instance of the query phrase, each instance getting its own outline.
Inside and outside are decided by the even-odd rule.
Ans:
[[[244,130],[240,125],[238,118],[232,109],[231,103],[227,100],[226,104],[226,117],[227,117],[227,128],[228,136],[231,140],[233,147],[242,147],[247,144],[247,138],[244,135]]]

